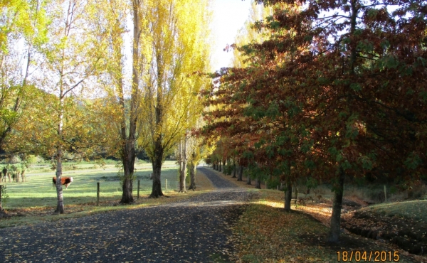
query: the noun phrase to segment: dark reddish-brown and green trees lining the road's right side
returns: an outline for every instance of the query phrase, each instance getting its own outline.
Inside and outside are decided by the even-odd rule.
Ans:
[[[427,4],[256,2],[273,14],[247,28],[258,42],[204,92],[203,132],[225,147],[211,159],[284,182],[285,210],[297,179],[332,183],[336,242],[344,178],[426,174]]]

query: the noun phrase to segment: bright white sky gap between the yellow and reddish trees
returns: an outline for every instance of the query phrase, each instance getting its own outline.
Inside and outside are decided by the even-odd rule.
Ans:
[[[236,34],[243,27],[249,16],[251,0],[213,0],[213,21],[211,32],[214,38],[212,45],[212,68],[219,70],[231,66],[233,52],[223,49],[234,43]]]

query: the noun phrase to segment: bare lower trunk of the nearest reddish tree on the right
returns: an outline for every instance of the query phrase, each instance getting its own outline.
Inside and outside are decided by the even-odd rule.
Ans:
[[[334,203],[332,204],[332,216],[330,233],[327,237],[328,242],[338,242],[339,234],[341,232],[341,209],[342,209],[342,195],[344,193],[344,170],[339,168],[338,182],[334,189]]]

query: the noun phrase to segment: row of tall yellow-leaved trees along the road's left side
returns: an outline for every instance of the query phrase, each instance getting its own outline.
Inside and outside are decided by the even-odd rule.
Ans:
[[[152,160],[152,198],[163,195],[164,157],[183,140],[195,141],[180,159],[194,169],[197,94],[210,81],[196,74],[209,70],[208,1],[0,3],[0,150],[54,157],[58,213],[65,153],[120,158],[121,203],[134,201],[142,149]]]

